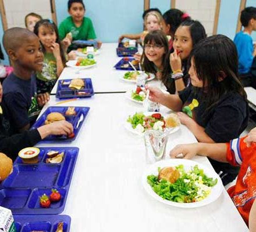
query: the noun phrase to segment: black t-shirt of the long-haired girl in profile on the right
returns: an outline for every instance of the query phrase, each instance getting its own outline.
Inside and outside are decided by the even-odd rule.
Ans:
[[[179,97],[183,102],[183,111],[191,114],[197,124],[204,127],[205,133],[216,143],[229,142],[239,137],[246,129],[249,117],[248,104],[239,93],[226,93],[210,110],[206,108],[207,95],[196,93],[193,86],[179,92]],[[235,177],[239,172],[239,167],[211,159],[209,161],[216,173],[222,172],[224,175],[227,173]],[[233,177],[226,181],[223,178],[223,184],[228,183]]]

